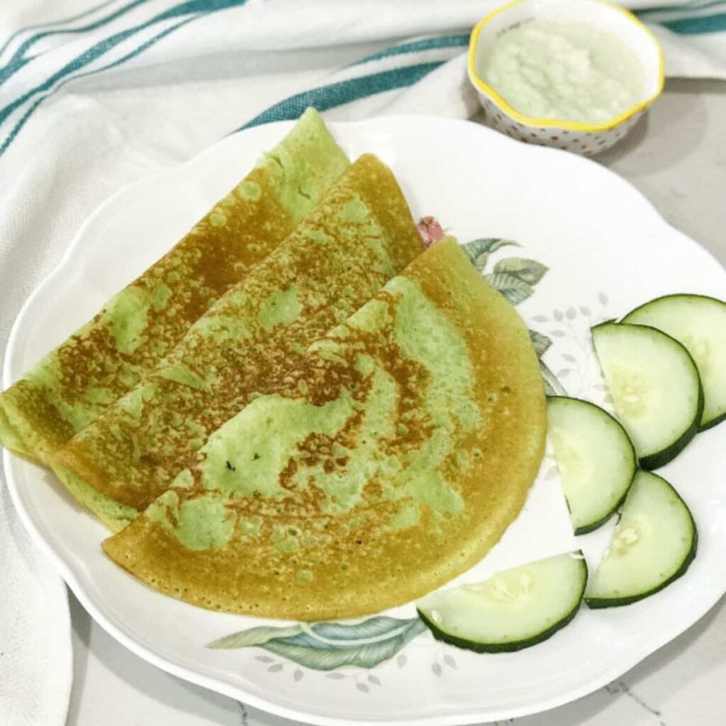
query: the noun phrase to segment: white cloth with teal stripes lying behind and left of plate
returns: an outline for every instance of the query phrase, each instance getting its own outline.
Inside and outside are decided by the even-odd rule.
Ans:
[[[0,349],[99,203],[250,120],[290,118],[309,103],[333,119],[474,113],[466,33],[499,3],[4,0]],[[725,17],[726,0],[643,14],[667,24],[654,26],[666,72],[701,78],[726,78]],[[420,36],[436,38],[411,41]],[[71,679],[65,590],[20,531],[4,486],[0,587],[0,722],[60,726]]]

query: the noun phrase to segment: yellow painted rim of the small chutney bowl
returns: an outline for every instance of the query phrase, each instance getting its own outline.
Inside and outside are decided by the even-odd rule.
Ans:
[[[616,126],[619,125],[619,123],[626,121],[632,115],[635,115],[636,113],[639,113],[640,111],[648,108],[648,106],[650,106],[650,104],[652,104],[653,101],[655,101],[656,98],[660,96],[661,91],[663,90],[664,68],[663,49],[661,48],[661,44],[658,43],[658,38],[656,38],[656,36],[654,36],[653,33],[651,33],[650,30],[645,25],[643,25],[643,23],[641,23],[640,20],[635,17],[635,15],[632,14],[632,12],[629,12],[628,10],[619,7],[618,5],[604,2],[603,0],[590,0],[592,2],[597,2],[597,4],[605,5],[606,7],[616,10],[617,12],[621,13],[621,15],[627,17],[627,19],[630,20],[632,23],[635,23],[635,25],[637,25],[640,30],[645,31],[645,33],[650,36],[650,39],[653,41],[656,49],[658,50],[658,88],[656,89],[656,92],[650,98],[645,99],[645,101],[641,101],[639,104],[633,106],[632,108],[629,108],[627,111],[621,113],[619,116],[616,116],[616,118],[613,118],[612,121],[608,121],[607,123],[581,123],[579,121],[560,121],[560,119],[557,118],[532,118],[531,116],[526,116],[523,113],[519,113],[519,111],[511,107],[505,101],[505,99],[503,99],[497,93],[497,91],[492,88],[492,86],[489,86],[489,83],[484,83],[484,81],[479,78],[478,74],[476,73],[476,46],[478,44],[479,33],[481,33],[482,28],[484,28],[487,23],[493,20],[494,17],[497,17],[497,15],[499,15],[500,13],[505,12],[506,10],[514,7],[515,5],[519,5],[523,2],[529,1],[530,0],[513,0],[513,2],[502,5],[502,7],[499,7],[493,12],[490,12],[489,15],[485,15],[474,26],[474,30],[472,31],[471,38],[469,40],[469,78],[474,83],[474,85],[489,98],[491,98],[492,101],[494,101],[499,109],[502,110],[505,114],[507,114],[511,118],[514,118],[515,121],[519,121],[520,123],[525,124],[526,126],[541,126],[545,129],[568,129],[569,131],[608,131],[609,129],[614,129]]]

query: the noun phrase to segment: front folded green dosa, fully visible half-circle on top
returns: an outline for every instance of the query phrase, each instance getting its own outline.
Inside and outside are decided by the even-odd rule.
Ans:
[[[319,620],[439,587],[497,542],[544,451],[526,327],[452,240],[314,343],[103,543],[195,605]]]

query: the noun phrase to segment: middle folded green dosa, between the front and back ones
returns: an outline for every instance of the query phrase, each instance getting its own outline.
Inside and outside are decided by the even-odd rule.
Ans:
[[[112,529],[165,492],[223,423],[421,252],[391,171],[364,155],[292,235],[201,317],[157,370],[54,452]]]

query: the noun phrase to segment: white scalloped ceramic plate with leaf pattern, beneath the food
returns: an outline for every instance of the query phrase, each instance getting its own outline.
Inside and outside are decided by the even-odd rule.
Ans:
[[[25,304],[12,331],[4,383],[22,375],[166,251],[288,128],[274,123],[231,136],[103,205]],[[726,298],[722,267],[669,227],[629,184],[595,163],[462,121],[380,118],[332,129],[351,157],[375,152],[393,168],[416,217],[436,216],[462,242],[520,242],[521,248],[492,251],[484,272],[513,256],[549,268],[518,309],[531,328],[552,340],[544,361],[571,395],[607,404],[589,344],[592,322],[664,293]],[[206,648],[240,631],[237,645],[249,643],[250,628],[283,624],[205,611],[148,589],[105,558],[99,542],[107,533],[52,476],[7,452],[4,463],[33,539],[102,627],[152,664],[317,724],[443,726],[530,714],[584,696],[706,613],[726,591],[725,445],[722,424],[700,434],[661,472],[688,502],[700,533],[698,556],[682,579],[626,608],[583,608],[546,643],[497,656],[457,650],[417,632],[412,605],[386,613],[398,620],[297,627],[288,636],[292,641],[279,640],[277,630],[254,631],[257,640],[272,639],[267,649]],[[582,547],[595,566],[611,527],[572,536],[557,470],[547,457],[521,516],[457,582],[574,547]],[[415,637],[404,643],[407,635]],[[319,670],[330,658],[349,662],[372,652],[388,658],[372,669]],[[295,653],[303,664],[290,660]]]

